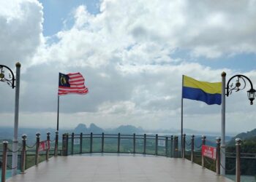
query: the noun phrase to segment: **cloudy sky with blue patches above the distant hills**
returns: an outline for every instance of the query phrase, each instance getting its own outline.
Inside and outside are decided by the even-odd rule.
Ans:
[[[60,98],[60,127],[91,122],[179,129],[181,78],[256,87],[256,1],[0,1],[0,64],[21,63],[20,127],[56,127],[59,72],[80,72],[88,95]],[[0,125],[14,95],[1,83]],[[246,88],[247,90],[247,88]],[[226,98],[227,132],[256,127],[246,90]],[[217,131],[221,106],[184,99],[184,127]]]

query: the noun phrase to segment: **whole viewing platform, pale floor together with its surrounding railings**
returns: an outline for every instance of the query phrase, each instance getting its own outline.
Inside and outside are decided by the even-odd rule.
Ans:
[[[23,135],[18,151],[18,175],[10,178],[12,153],[3,142],[1,182],[19,181],[255,181],[256,154],[242,154],[241,140],[236,140],[237,153],[228,153],[226,175],[220,175],[220,140],[215,143],[205,136],[116,134],[62,135],[26,143]],[[208,144],[205,145],[205,144]],[[211,145],[215,145],[213,147]],[[61,146],[61,147],[60,147]],[[207,155],[206,155],[207,154]],[[234,155],[236,154],[236,155]],[[242,165],[240,165],[240,162]],[[15,169],[15,168],[13,168]],[[235,173],[234,173],[235,172]],[[4,175],[3,175],[4,174]],[[244,175],[241,180],[241,175]],[[228,177],[228,178],[226,178]]]

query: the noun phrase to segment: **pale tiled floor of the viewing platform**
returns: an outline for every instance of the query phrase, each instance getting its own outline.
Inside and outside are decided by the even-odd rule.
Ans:
[[[7,182],[231,182],[229,179],[202,169],[186,159],[143,155],[92,154],[52,157],[26,174],[16,175]]]

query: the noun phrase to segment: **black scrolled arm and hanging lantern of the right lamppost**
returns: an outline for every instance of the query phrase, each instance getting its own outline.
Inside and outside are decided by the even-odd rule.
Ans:
[[[233,79],[236,79],[236,83],[232,82]],[[239,90],[244,90],[246,87],[246,80],[249,82],[251,89],[247,91],[247,96],[248,99],[250,100],[250,104],[253,104],[253,100],[255,100],[255,96],[256,96],[256,90],[253,89],[253,85],[251,80],[247,77],[244,76],[242,74],[237,74],[235,76],[232,76],[228,82],[227,82],[227,97],[228,95],[230,95],[232,93],[233,90],[236,90],[236,92],[238,92]]]

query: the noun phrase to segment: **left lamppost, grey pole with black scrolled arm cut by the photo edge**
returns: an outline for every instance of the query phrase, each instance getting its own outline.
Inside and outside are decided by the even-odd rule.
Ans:
[[[0,81],[7,82],[12,89],[15,88],[15,119],[14,136],[12,140],[12,175],[17,174],[18,168],[18,113],[19,113],[19,95],[20,95],[20,63],[16,63],[16,79],[12,70],[4,65],[0,65]]]

